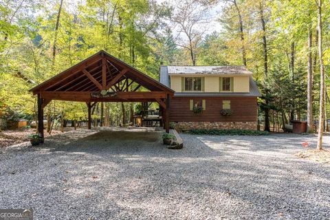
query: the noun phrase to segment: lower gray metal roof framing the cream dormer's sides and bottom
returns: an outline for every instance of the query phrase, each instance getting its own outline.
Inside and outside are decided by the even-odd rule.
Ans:
[[[160,83],[170,87],[170,76],[168,74],[168,67],[160,67]],[[250,92],[175,92],[174,96],[250,96],[259,97],[261,93],[254,82],[252,76],[250,76]]]

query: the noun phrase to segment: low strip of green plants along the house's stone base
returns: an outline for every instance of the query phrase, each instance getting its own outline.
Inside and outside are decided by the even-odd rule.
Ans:
[[[269,135],[268,131],[254,131],[254,130],[239,130],[239,129],[228,129],[228,130],[217,130],[217,129],[192,129],[190,133],[193,135]]]

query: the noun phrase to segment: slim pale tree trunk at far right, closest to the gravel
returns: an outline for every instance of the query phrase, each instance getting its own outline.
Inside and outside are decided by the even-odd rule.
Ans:
[[[323,126],[325,120],[325,67],[322,50],[322,0],[318,0],[318,56],[320,56],[320,117],[318,122],[318,150],[322,150]]]

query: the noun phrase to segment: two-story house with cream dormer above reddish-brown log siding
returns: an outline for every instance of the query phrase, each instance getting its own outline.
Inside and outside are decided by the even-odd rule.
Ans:
[[[175,91],[169,120],[179,129],[257,128],[261,94],[243,66],[162,66],[160,83]]]

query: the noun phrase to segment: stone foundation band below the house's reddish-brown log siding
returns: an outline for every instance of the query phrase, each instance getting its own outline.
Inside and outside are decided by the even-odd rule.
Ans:
[[[256,122],[177,122],[175,129],[240,129],[256,130]]]

